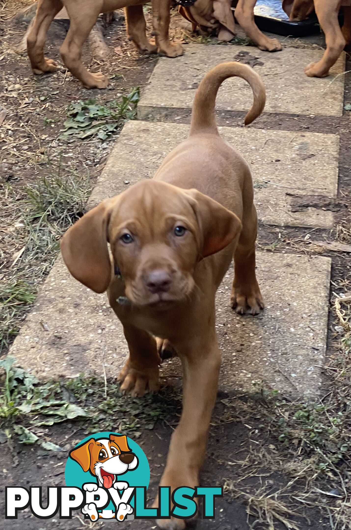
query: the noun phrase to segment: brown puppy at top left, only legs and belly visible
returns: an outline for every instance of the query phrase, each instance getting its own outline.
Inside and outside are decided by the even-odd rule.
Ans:
[[[100,13],[125,7],[128,36],[140,51],[158,51],[168,57],[181,55],[182,46],[170,42],[168,35],[171,0],[152,0],[156,46],[146,38],[146,22],[141,4],[143,0],[39,0],[36,18],[27,39],[33,73],[40,75],[57,70],[55,61],[44,57],[43,47],[49,26],[62,7],[66,8],[70,25],[60,53],[68,70],[87,89],[105,89],[109,84],[106,76],[90,73],[81,61],[83,44]]]

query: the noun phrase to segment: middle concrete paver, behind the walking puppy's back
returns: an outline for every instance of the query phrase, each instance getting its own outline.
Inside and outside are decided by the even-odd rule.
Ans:
[[[187,137],[188,131],[189,126],[180,123],[129,121],[94,188],[90,206],[117,195],[139,179],[152,177],[165,155]],[[337,135],[243,127],[221,127],[220,132],[251,166],[255,204],[262,222],[332,227],[331,211],[296,208],[296,204],[300,196],[336,196]]]

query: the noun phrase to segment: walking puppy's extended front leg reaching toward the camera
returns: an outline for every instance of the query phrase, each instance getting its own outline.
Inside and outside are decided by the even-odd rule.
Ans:
[[[181,486],[195,488],[205,457],[208,427],[221,366],[214,317],[210,336],[198,339],[197,343],[186,348],[177,345],[177,350],[183,367],[183,411],[171,438],[167,463],[160,482],[160,486],[170,486],[171,491]],[[157,524],[168,530],[185,528],[182,519],[157,520]]]

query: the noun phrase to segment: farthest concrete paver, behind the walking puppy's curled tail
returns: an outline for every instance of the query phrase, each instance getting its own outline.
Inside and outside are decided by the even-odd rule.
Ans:
[[[162,116],[162,108],[189,109],[197,86],[205,73],[223,61],[238,60],[238,54],[257,57],[255,71],[262,76],[267,90],[265,112],[314,116],[342,116],[344,101],[345,52],[331,69],[329,77],[307,77],[304,67],[318,61],[322,49],[285,48],[274,54],[250,46],[188,45],[185,55],[161,58],[138,104],[140,119]],[[240,58],[240,57],[239,57]],[[245,57],[241,57],[245,60]],[[221,111],[248,110],[252,102],[250,86],[239,78],[223,83],[217,96]]]

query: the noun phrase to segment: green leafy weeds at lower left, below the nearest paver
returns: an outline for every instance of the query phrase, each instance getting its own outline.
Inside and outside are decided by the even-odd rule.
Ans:
[[[180,393],[166,388],[160,394],[130,398],[118,383],[83,375],[68,381],[37,379],[15,366],[15,358],[0,360],[0,443],[13,437],[22,444],[39,444],[51,451],[60,447],[41,437],[43,426],[63,421],[84,421],[87,432],[117,430],[138,438],[141,429],[153,429],[163,417],[181,407]]]

